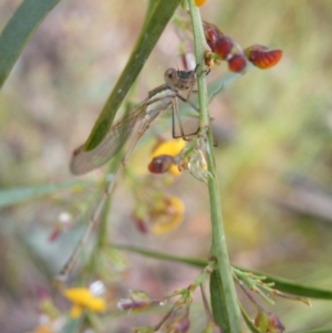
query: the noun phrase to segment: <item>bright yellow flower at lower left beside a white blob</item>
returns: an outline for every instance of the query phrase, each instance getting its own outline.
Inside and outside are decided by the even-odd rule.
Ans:
[[[70,288],[63,294],[73,302],[72,318],[79,318],[84,309],[93,312],[103,312],[106,309],[105,300],[95,296],[87,288]]]

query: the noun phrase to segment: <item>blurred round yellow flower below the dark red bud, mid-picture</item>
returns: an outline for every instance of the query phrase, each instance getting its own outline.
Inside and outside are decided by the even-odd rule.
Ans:
[[[164,207],[152,214],[152,232],[162,235],[177,228],[184,219],[184,212],[185,205],[179,198],[167,198]]]

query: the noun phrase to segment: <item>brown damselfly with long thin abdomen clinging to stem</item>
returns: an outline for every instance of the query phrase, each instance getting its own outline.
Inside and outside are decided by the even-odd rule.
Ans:
[[[110,181],[101,201],[95,208],[90,219],[89,226],[77,243],[74,252],[59,274],[60,280],[66,280],[69,273],[72,271],[77,256],[86,242],[91,231],[96,225],[107,197],[113,191],[116,179],[133,152],[136,143],[141,136],[149,127],[149,124],[165,110],[170,108],[173,113],[173,137],[183,137],[189,139],[195,133],[186,134],[181,126],[181,119],[178,111],[178,98],[188,103],[195,111],[199,111],[196,105],[189,101],[189,96],[196,83],[195,71],[176,71],[175,69],[166,70],[164,74],[165,84],[154,89],[148,93],[148,97],[141,104],[134,106],[126,115],[117,121],[103,138],[101,144],[93,150],[85,152],[84,145],[76,148],[71,160],[71,171],[75,175],[89,173],[111,159],[128,139],[137,122],[141,121],[139,127],[135,137],[133,138],[127,152],[125,153],[121,165],[118,166],[113,179]],[[184,94],[181,95],[180,92]],[[178,131],[177,132],[177,127]]]

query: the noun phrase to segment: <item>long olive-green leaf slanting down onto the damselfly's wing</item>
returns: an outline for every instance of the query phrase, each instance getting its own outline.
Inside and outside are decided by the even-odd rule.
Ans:
[[[136,80],[179,2],[180,0],[155,0],[149,2],[147,17],[136,45],[85,143],[85,150],[92,150],[105,137],[121,103]]]

